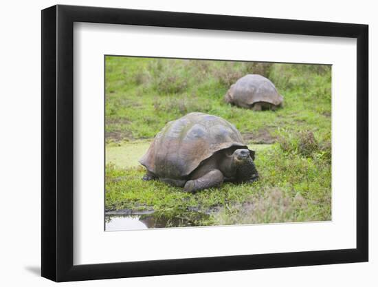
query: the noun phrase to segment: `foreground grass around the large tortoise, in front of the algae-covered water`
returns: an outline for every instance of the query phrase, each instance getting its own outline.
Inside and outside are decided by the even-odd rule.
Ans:
[[[244,223],[331,220],[330,164],[324,164],[316,157],[286,154],[275,144],[258,153],[256,167],[260,173],[258,182],[225,183],[219,189],[190,194],[164,182],[144,182],[141,180],[145,172],[143,167],[121,169],[115,164],[107,164],[106,206],[110,210],[153,209],[170,216],[192,209],[201,213],[215,209],[223,214],[223,220],[215,213],[210,222],[201,225],[214,224],[218,216],[219,224],[225,224],[224,214],[229,213],[229,220],[240,216],[237,211],[241,204],[248,204],[254,215],[249,222],[245,222],[247,217],[243,216]],[[276,197],[269,198],[277,193]],[[262,204],[276,208],[261,209]],[[240,209],[240,212],[245,211]]]

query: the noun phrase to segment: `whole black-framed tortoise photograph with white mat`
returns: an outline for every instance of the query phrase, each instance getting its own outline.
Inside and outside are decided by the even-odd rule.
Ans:
[[[368,25],[42,11],[42,276],[368,261]]]

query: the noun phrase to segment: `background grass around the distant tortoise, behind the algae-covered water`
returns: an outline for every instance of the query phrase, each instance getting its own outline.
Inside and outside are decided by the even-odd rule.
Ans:
[[[254,112],[224,103],[230,83],[254,63],[188,61],[108,56],[106,130],[108,140],[153,138],[169,120],[191,111],[221,116],[241,133],[268,129],[331,132],[331,69],[328,66],[269,65],[269,78],[285,97],[284,109]],[[231,79],[225,80],[225,75]],[[230,76],[229,76],[230,77]]]

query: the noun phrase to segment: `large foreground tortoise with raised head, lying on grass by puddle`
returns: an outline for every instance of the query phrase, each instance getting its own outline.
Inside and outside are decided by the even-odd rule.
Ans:
[[[258,179],[254,151],[240,132],[227,120],[203,113],[167,123],[140,163],[147,169],[143,180],[159,179],[188,192]]]

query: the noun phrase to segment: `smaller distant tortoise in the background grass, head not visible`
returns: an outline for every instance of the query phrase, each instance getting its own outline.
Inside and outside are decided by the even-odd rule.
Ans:
[[[283,97],[267,78],[248,74],[239,78],[225,94],[225,101],[238,107],[261,111],[282,107]]]

